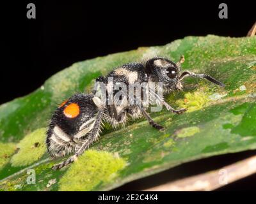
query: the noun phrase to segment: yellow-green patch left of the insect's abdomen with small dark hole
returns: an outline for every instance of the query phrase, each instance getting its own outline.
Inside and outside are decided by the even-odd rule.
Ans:
[[[45,151],[45,128],[26,135],[17,145],[19,152],[11,159],[12,166],[26,166],[40,159]]]

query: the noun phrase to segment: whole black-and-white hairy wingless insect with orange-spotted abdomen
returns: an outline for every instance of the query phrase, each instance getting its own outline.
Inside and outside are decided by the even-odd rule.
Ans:
[[[155,92],[155,88],[160,84],[164,94],[181,90],[181,80],[185,77],[205,78],[214,84],[225,86],[209,75],[190,71],[181,72],[182,62],[184,62],[183,56],[176,64],[163,57],[154,57],[144,63],[124,64],[115,68],[106,77],[97,78],[96,84],[100,83],[100,86],[95,86],[92,94],[75,94],[61,103],[54,112],[47,131],[47,149],[53,158],[71,153],[74,155],[62,163],[55,164],[52,169],[60,169],[83,154],[84,150],[99,138],[102,122],[109,122],[116,127],[125,124],[127,117],[136,119],[143,115],[151,126],[159,130],[164,129],[146,112],[148,106],[152,105],[150,96],[154,96],[154,102],[165,106],[170,112],[180,114],[186,109],[175,110],[166,103],[164,98]],[[145,85],[150,83],[154,83],[154,87],[149,86],[147,94],[144,94]],[[144,84],[139,94],[133,91],[132,94],[125,92],[134,84]],[[102,89],[106,89],[104,100],[101,97]]]

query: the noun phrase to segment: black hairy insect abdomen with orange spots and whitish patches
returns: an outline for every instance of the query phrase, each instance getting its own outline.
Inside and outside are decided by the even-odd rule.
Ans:
[[[52,157],[75,152],[94,125],[97,106],[93,95],[75,94],[54,112],[47,131],[47,149]]]

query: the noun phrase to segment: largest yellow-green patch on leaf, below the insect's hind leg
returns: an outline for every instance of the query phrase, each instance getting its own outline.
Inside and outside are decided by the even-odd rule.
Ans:
[[[87,150],[60,179],[60,191],[92,191],[111,182],[125,164],[124,159],[110,152]]]

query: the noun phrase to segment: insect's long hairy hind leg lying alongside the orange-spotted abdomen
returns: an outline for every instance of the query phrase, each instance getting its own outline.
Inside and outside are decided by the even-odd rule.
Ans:
[[[55,164],[54,166],[52,166],[53,170],[58,170],[60,168],[63,168],[64,166],[67,166],[68,164],[76,161],[77,157],[80,156],[81,154],[83,154],[84,150],[86,150],[90,146],[90,144],[98,137],[99,130],[100,130],[100,123],[101,123],[103,113],[104,113],[104,109],[99,108],[99,112],[95,119],[95,124],[92,128],[92,131],[90,131],[88,138],[86,138],[84,143],[79,147],[76,154],[69,157],[66,161],[63,161],[59,164]]]

